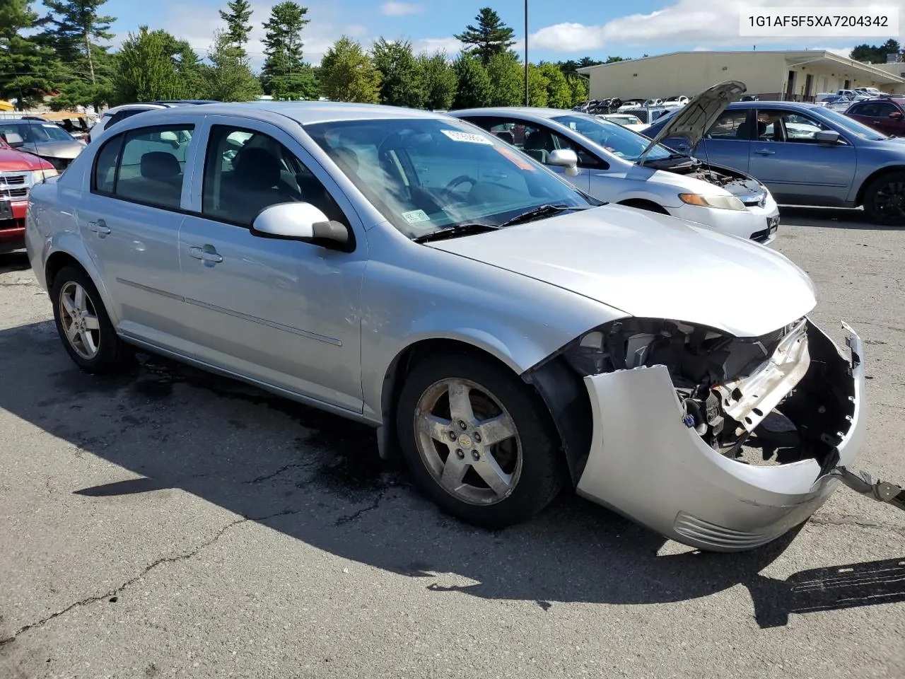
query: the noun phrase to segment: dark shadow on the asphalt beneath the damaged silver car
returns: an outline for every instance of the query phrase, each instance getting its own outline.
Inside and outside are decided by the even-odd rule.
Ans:
[[[397,465],[381,462],[367,426],[167,359],[91,376],[71,364],[51,322],[0,330],[0,375],[16,385],[0,389],[0,407],[77,446],[72,464],[86,451],[134,474],[91,487],[72,481],[69,497],[85,512],[123,497],[140,511],[146,493],[177,489],[421,580],[437,596],[526,600],[544,611],[557,602],[678,602],[742,584],[768,627],[790,613],[905,600],[905,561],[772,579],[760,571],[797,531],[749,552],[675,553],[674,543],[568,493],[533,521],[476,530],[443,516]]]

